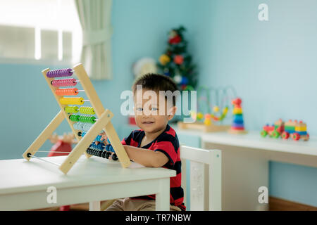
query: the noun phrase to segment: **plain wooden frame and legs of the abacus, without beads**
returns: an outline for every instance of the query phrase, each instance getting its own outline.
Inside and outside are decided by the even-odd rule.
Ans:
[[[77,75],[77,78],[79,79],[82,88],[85,90],[87,98],[89,98],[89,101],[92,107],[94,108],[94,112],[98,117],[97,122],[94,123],[94,125],[89,129],[89,131],[84,137],[78,136],[76,130],[73,127],[73,124],[75,122],[69,119],[68,113],[66,113],[64,110],[65,106],[67,105],[62,105],[59,101],[60,98],[62,98],[63,96],[57,96],[55,90],[58,89],[58,87],[51,85],[51,81],[53,81],[54,78],[49,78],[46,76],[46,73],[49,72],[49,68],[42,70],[42,74],[44,75],[44,78],[46,79],[46,82],[49,85],[54,97],[56,98],[56,101],[59,107],[61,108],[61,111],[59,111],[56,117],[54,117],[54,119],[51,120],[51,122],[42,131],[42,133],[39,134],[37,139],[33,141],[30,147],[27,148],[27,150],[25,150],[25,152],[23,153],[23,158],[25,158],[26,160],[30,160],[31,157],[29,156],[29,154],[35,155],[37,150],[39,150],[39,148],[44,144],[44,142],[47,139],[49,139],[49,136],[51,136],[51,134],[56,130],[56,128],[61,124],[61,122],[64,119],[66,119],[68,124],[70,125],[70,129],[72,129],[73,133],[75,134],[75,139],[77,139],[78,143],[75,146],[75,148],[73,148],[73,150],[70,152],[66,160],[59,167],[59,169],[64,174],[67,174],[68,171],[73,167],[73,165],[75,165],[75,162],[77,162],[82,153],[85,153],[87,158],[92,156],[89,155],[86,152],[86,150],[102,129],[104,129],[104,131],[106,132],[106,136],[111,141],[111,145],[113,146],[113,149],[115,150],[116,155],[118,156],[118,160],[120,161],[121,166],[123,168],[129,167],[131,164],[130,158],[128,157],[128,154],[125,152],[125,149],[123,148],[123,145],[120,142],[118,134],[116,133],[116,130],[114,129],[113,124],[111,123],[113,113],[111,113],[111,111],[108,109],[104,109],[104,106],[102,105],[100,98],[94,89],[94,86],[92,86],[92,82],[90,81],[82,63],[78,63],[77,65],[75,65],[73,67],[73,71]]]

